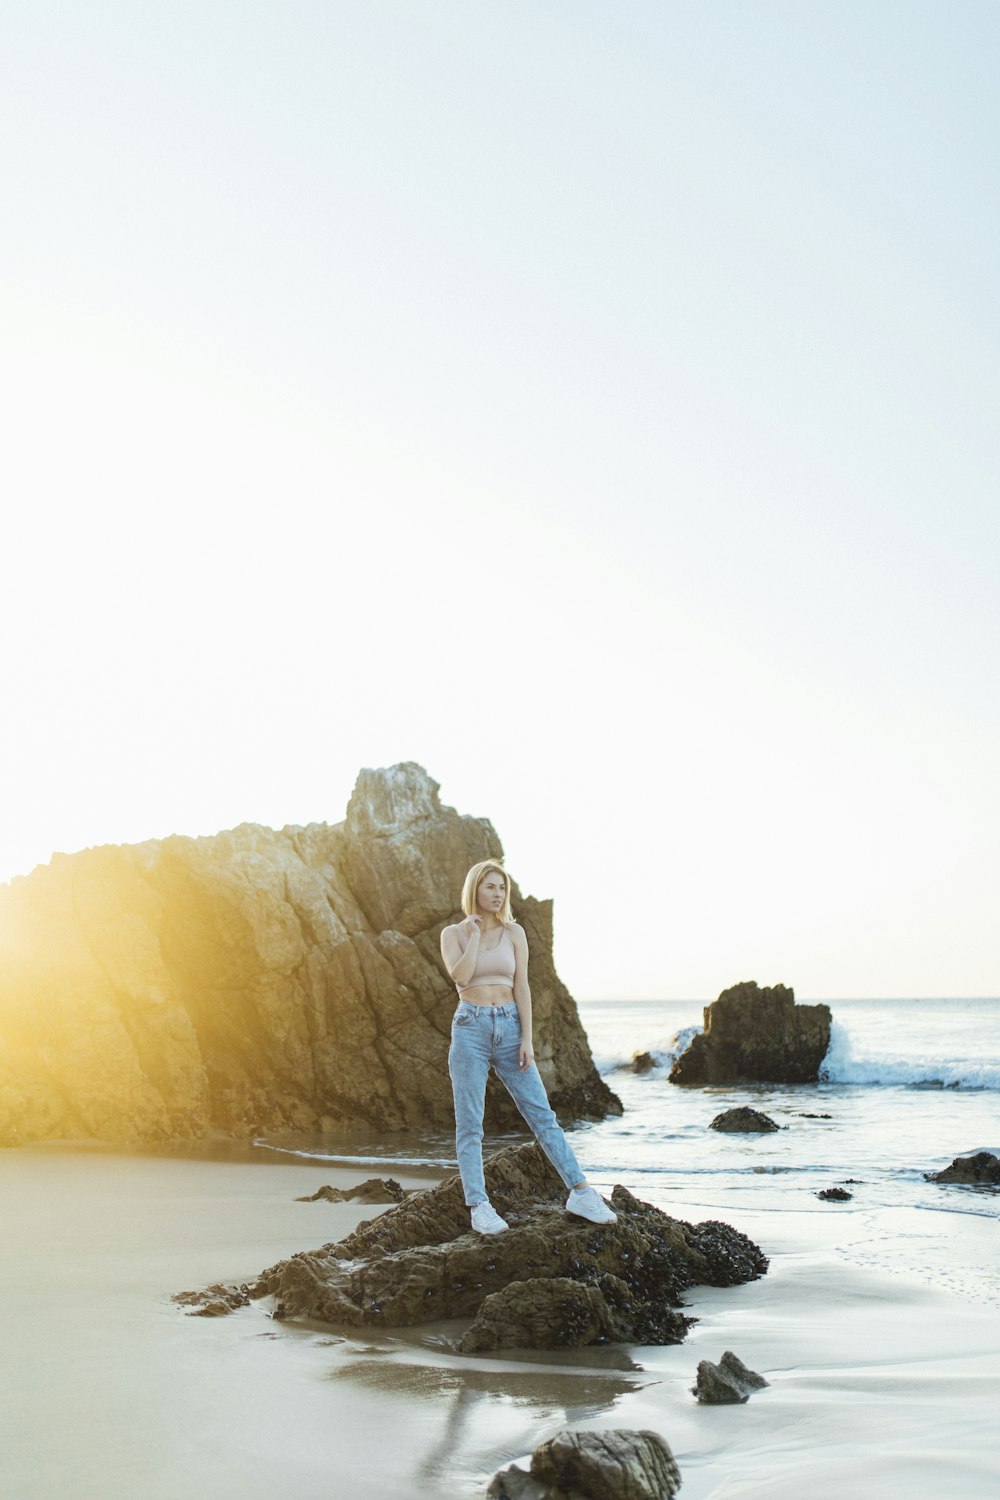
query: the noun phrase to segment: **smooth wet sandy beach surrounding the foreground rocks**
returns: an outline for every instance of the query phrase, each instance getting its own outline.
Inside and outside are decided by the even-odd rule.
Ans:
[[[438,1180],[393,1174],[406,1186]],[[984,1500],[1000,1484],[1000,1312],[843,1263],[837,1240],[864,1230],[858,1216],[733,1215],[771,1270],[696,1288],[700,1322],[669,1348],[459,1359],[445,1342],[456,1324],[342,1336],[277,1324],[264,1305],[196,1318],[171,1302],[348,1233],[378,1210],[295,1198],[363,1176],[280,1160],[0,1154],[12,1293],[3,1494],[459,1500],[567,1424],[663,1432],[688,1500],[846,1490]],[[696,1202],[670,1209],[706,1216]],[[996,1254],[993,1221],[970,1216],[966,1228]],[[699,1407],[688,1389],[697,1360],[724,1348],[771,1388],[748,1406]]]

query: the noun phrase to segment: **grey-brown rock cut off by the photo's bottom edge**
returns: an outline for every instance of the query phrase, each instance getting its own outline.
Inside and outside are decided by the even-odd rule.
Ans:
[[[670,1500],[681,1472],[658,1432],[556,1432],[531,1455],[531,1474],[517,1464],[495,1474],[489,1500]]]

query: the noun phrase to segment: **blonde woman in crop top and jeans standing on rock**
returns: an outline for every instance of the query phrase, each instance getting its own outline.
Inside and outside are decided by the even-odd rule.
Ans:
[[[459,1172],[465,1202],[472,1209],[472,1228],[480,1234],[501,1234],[508,1228],[487,1197],[483,1176],[483,1107],[490,1064],[570,1188],[567,1210],[592,1224],[613,1224],[618,1215],[580,1172],[535,1066],[528,939],[511,916],[510,885],[496,861],[481,860],[472,866],[462,890],[462,910],[465,921],[441,933],[441,956],[459,992],[448,1072]]]

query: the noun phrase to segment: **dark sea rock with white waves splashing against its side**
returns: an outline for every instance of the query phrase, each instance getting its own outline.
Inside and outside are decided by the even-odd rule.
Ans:
[[[705,1030],[670,1070],[670,1083],[816,1083],[831,1040],[828,1005],[796,1005],[784,984],[753,980],[705,1008]]]

